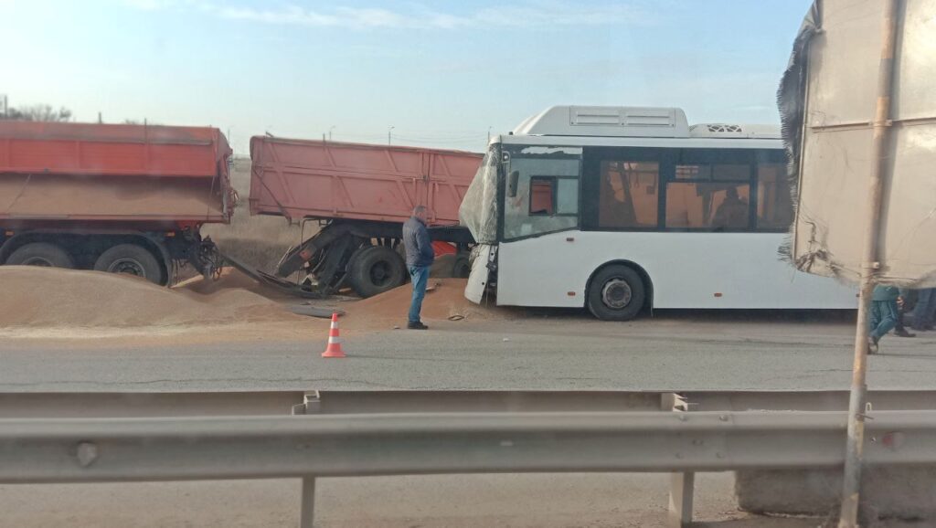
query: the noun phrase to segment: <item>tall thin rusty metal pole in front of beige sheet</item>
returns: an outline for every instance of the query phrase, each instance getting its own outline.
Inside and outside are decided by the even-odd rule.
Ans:
[[[855,330],[855,366],[852,370],[852,389],[848,401],[848,439],[845,445],[845,470],[841,487],[840,528],[853,528],[858,525],[861,465],[865,442],[865,399],[868,392],[868,386],[865,384],[868,369],[868,312],[875,275],[880,268],[878,241],[881,202],[884,194],[885,146],[887,131],[890,127],[890,98],[894,77],[894,46],[897,40],[899,0],[885,1],[877,102],[874,108],[868,215],[865,224],[867,238],[862,254],[858,323]]]

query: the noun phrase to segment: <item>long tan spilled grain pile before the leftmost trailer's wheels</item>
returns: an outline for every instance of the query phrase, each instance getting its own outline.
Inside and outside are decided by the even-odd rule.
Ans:
[[[3,266],[0,285],[0,327],[178,327],[305,320],[241,288],[198,295],[96,271]]]

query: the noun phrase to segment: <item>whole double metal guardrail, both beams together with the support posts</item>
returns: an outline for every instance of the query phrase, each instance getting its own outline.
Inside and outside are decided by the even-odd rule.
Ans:
[[[936,463],[934,395],[872,392],[925,410],[870,411],[866,461]],[[797,404],[841,410],[672,412]],[[315,477],[672,472],[686,525],[696,471],[841,465],[846,406],[845,391],[0,394],[0,482],[300,477],[307,527]]]

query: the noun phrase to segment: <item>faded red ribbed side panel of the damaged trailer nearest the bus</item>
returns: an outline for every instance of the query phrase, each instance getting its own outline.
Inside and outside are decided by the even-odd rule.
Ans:
[[[414,147],[255,137],[253,214],[402,223],[426,205],[454,225],[481,154]]]

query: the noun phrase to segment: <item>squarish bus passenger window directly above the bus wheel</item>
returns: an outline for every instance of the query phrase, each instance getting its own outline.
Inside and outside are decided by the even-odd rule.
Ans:
[[[598,227],[656,227],[660,164],[603,161]]]

